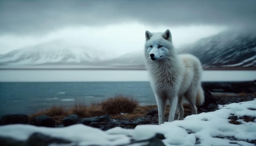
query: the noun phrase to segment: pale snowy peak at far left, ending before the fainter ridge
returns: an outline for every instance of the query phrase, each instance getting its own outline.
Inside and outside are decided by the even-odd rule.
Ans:
[[[54,41],[0,55],[0,65],[86,64],[101,60],[94,54],[90,49],[70,48],[64,42]]]

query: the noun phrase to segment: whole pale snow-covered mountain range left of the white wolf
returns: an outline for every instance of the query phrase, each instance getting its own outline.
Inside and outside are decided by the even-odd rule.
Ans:
[[[142,53],[111,56],[85,47],[53,41],[0,55],[2,69],[144,69]]]

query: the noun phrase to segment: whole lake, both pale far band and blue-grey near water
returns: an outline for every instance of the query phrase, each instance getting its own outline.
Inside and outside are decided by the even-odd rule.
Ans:
[[[252,81],[256,71],[204,71],[203,81]],[[0,70],[0,116],[52,105],[102,102],[115,95],[156,104],[144,70]]]

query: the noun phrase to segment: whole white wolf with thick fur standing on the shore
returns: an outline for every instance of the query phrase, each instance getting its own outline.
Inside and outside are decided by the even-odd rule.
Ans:
[[[168,122],[174,120],[176,108],[178,119],[183,119],[183,97],[190,103],[192,114],[197,114],[196,105],[204,103],[200,81],[202,65],[198,58],[189,54],[177,55],[168,29],[164,33],[146,31],[145,58],[157,101],[159,124],[164,123],[167,100],[170,103]]]

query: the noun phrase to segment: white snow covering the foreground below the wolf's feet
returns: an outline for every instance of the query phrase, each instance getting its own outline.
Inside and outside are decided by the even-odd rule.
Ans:
[[[254,146],[249,142],[256,139],[256,120],[245,122],[238,119],[241,124],[235,125],[230,124],[228,118],[232,115],[256,117],[255,107],[256,99],[219,105],[220,109],[217,111],[190,115],[184,120],[165,122],[161,125],[138,125],[135,129],[115,127],[108,131],[83,124],[63,128],[6,125],[0,126],[0,136],[26,140],[32,133],[40,132],[52,137],[62,137],[83,146],[116,146],[130,144],[131,139],[149,139],[156,133],[162,133],[166,138],[162,140],[166,146]]]

